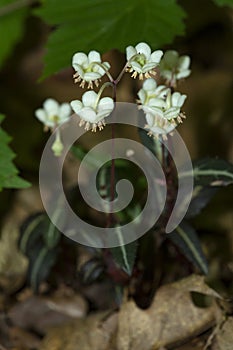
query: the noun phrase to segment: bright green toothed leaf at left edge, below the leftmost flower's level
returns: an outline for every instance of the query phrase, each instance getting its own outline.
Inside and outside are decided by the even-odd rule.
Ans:
[[[3,119],[3,115],[0,115],[0,123]],[[15,153],[8,146],[10,140],[10,136],[0,127],[0,191],[3,188],[27,188],[30,186],[29,182],[17,175],[18,170],[12,162]]]

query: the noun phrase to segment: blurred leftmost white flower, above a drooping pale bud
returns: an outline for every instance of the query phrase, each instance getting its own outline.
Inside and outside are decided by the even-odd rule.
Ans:
[[[48,98],[43,103],[43,108],[35,111],[35,115],[44,124],[45,129],[54,129],[70,118],[71,108],[69,103],[59,105],[54,99]]]

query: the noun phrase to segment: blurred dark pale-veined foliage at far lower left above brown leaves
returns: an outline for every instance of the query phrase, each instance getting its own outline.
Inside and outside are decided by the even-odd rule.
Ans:
[[[22,225],[19,248],[29,259],[28,280],[35,292],[57,260],[61,234],[44,213]]]

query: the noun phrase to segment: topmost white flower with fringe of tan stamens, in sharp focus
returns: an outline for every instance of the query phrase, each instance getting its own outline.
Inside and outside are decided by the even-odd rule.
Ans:
[[[128,46],[126,48],[126,58],[128,61],[127,71],[136,78],[139,74],[139,79],[150,78],[156,73],[153,69],[159,64],[163,51],[157,50],[151,53],[151,48],[146,43],[139,43],[135,47]]]

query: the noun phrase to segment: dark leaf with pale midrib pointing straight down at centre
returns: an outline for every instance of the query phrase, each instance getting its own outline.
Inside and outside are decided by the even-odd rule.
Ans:
[[[125,245],[120,226],[118,227],[117,235],[120,246],[111,248],[110,250],[115,263],[130,276],[137,255],[138,243],[134,241]]]

